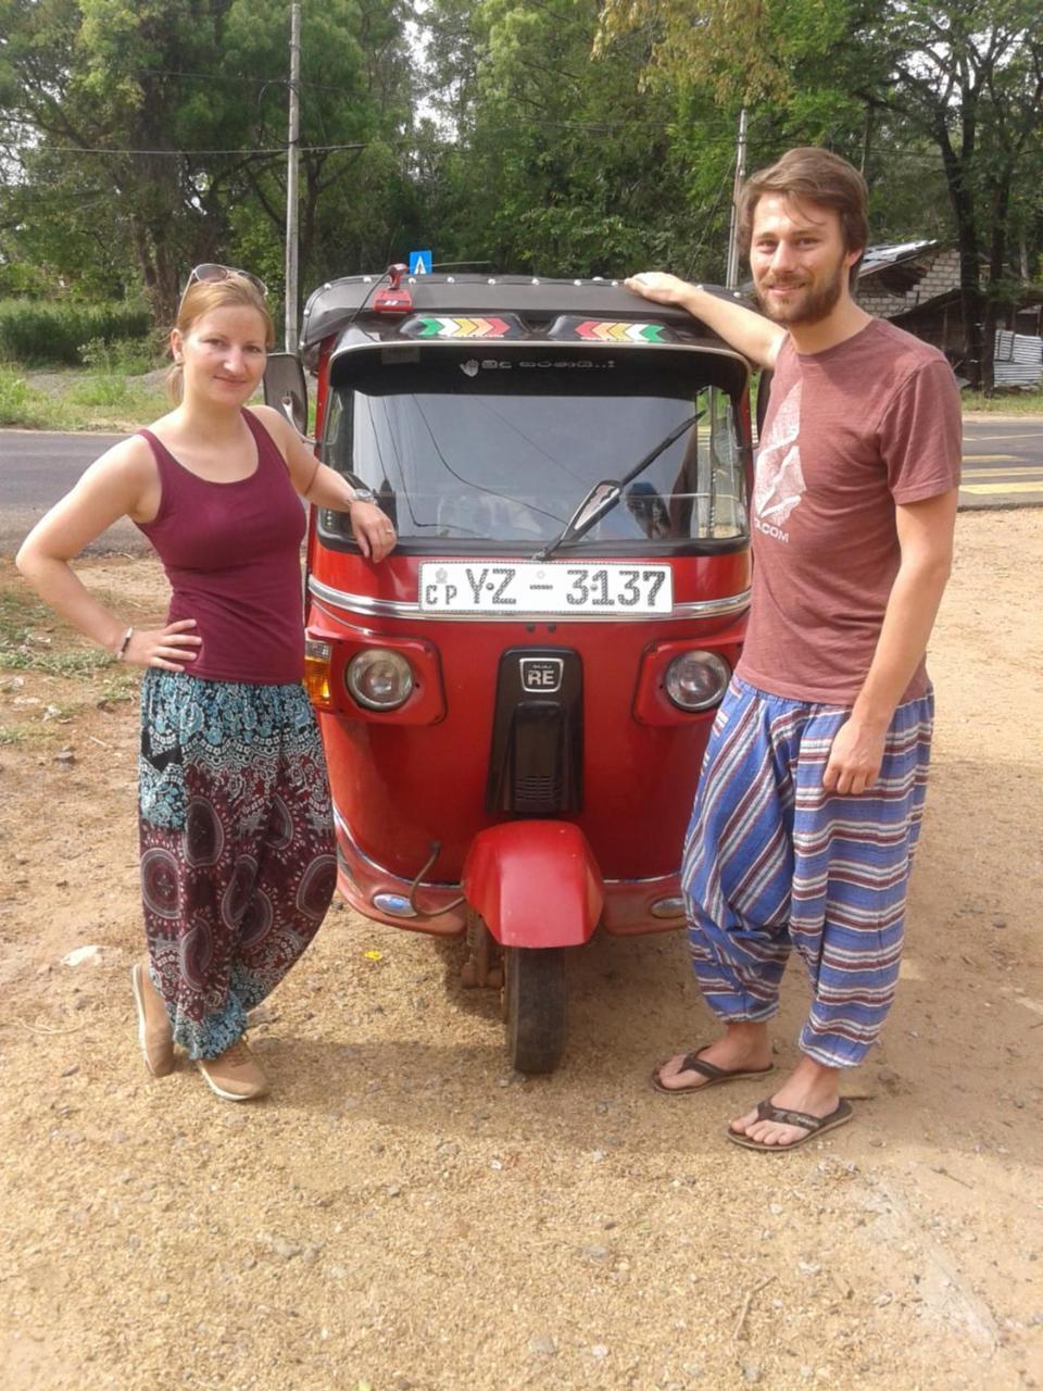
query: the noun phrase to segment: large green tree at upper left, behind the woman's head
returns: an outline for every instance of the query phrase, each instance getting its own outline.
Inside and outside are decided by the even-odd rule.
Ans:
[[[325,204],[342,204],[355,171],[373,170],[363,152],[409,128],[407,13],[398,0],[305,10],[305,264],[321,259]],[[124,284],[138,280],[167,323],[185,268],[231,260],[236,243],[281,282],[284,0],[0,0],[0,33],[7,239],[38,252],[46,243],[46,259],[63,270],[72,262],[90,275],[92,257],[106,278],[121,267]],[[378,154],[375,167],[385,163]],[[40,225],[42,198],[67,217]]]

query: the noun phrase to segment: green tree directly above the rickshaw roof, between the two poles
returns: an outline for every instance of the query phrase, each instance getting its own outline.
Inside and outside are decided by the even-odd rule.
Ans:
[[[597,0],[434,0],[420,177],[437,259],[619,275],[691,245],[672,100],[642,42],[591,61]]]

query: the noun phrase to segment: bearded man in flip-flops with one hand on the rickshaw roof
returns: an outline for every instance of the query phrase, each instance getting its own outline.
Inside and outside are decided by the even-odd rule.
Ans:
[[[953,554],[955,381],[941,353],[852,299],[865,206],[847,161],[794,149],[743,193],[766,317],[673,275],[626,282],[773,371],[750,627],[681,871],[695,975],[725,1034],[654,1082],[683,1093],[769,1072],[795,947],[812,986],[801,1059],[727,1131],[775,1153],[851,1118],[841,1070],[865,1059],[894,996],[933,718],[923,654]]]

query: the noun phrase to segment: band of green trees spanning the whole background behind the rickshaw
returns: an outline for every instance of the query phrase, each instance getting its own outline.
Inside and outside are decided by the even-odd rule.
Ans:
[[[992,330],[1043,300],[1039,0],[695,10],[305,6],[302,292],[423,248],[435,268],[722,284],[745,113],[747,170],[826,145],[866,175],[873,242],[958,249],[961,374],[979,385]],[[218,260],[260,275],[277,309],[285,0],[0,14],[0,298],[145,300],[170,324],[189,268]],[[82,324],[63,360],[121,337]]]

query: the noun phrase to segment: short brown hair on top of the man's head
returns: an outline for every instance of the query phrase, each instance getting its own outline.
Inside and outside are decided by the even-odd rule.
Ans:
[[[815,145],[800,145],[787,150],[770,168],[758,170],[747,179],[738,204],[738,238],[747,255],[754,234],[754,213],[765,193],[832,207],[840,218],[844,250],[865,250],[869,241],[869,192],[854,164],[841,160],[839,154],[830,154]],[[848,271],[851,289],[855,288],[861,264],[859,256]]]

